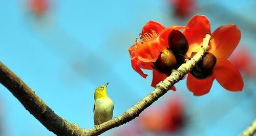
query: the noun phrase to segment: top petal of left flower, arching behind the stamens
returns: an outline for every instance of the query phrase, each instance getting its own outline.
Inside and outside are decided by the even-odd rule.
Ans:
[[[160,33],[165,27],[157,21],[149,21],[146,25],[142,28],[142,35],[144,33],[151,33],[152,30],[155,30],[156,33]]]

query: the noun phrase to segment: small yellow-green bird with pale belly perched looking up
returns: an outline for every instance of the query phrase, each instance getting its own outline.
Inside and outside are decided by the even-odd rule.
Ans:
[[[114,105],[112,100],[106,95],[106,86],[109,82],[100,85],[94,92],[94,125],[99,125],[103,122],[109,121],[113,117]]]

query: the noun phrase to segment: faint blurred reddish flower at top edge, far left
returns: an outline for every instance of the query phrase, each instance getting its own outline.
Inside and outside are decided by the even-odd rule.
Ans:
[[[30,10],[38,16],[46,13],[49,8],[48,0],[29,0]]]

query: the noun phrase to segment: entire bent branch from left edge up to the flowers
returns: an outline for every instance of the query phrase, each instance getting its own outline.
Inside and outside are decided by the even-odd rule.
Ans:
[[[1,62],[0,82],[10,90],[14,97],[23,104],[30,114],[56,135],[98,135],[135,119],[144,109],[167,93],[169,88],[180,81],[202,58],[204,53],[209,49],[208,43],[210,39],[211,36],[206,34],[206,37],[203,39],[203,45],[197,54],[186,61],[186,63],[182,64],[177,70],[174,70],[169,77],[158,83],[155,89],[141,101],[127,109],[122,115],[100,125],[96,125],[92,129],[81,129],[78,125],[69,123],[56,115],[54,111],[34,93],[33,89],[29,88],[25,82],[18,78]]]

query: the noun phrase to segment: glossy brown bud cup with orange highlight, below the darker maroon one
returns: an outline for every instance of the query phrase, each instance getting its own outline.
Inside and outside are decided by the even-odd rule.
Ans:
[[[161,52],[159,57],[154,64],[154,69],[156,69],[158,72],[163,74],[169,74],[172,72],[173,69],[177,66],[177,61],[175,58],[174,53],[166,49],[166,52]]]

